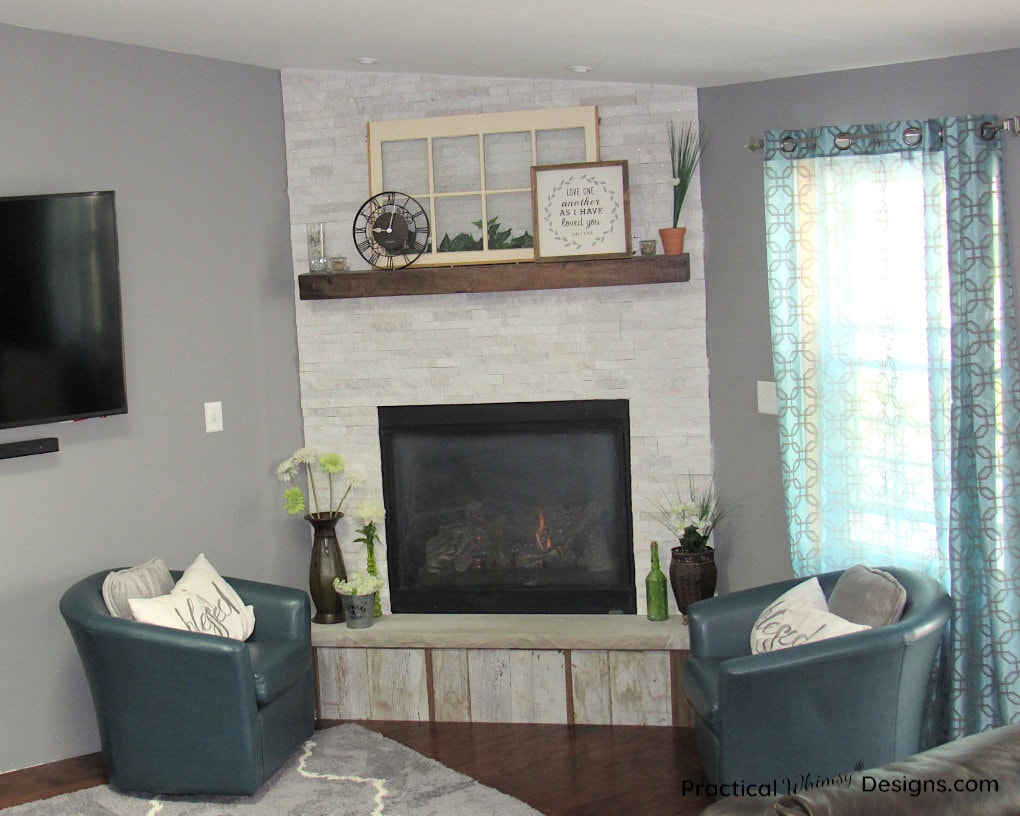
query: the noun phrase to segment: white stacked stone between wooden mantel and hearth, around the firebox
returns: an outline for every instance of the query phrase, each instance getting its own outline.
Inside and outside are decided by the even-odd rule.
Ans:
[[[306,443],[339,451],[364,475],[339,526],[348,568],[362,568],[365,558],[350,511],[363,498],[382,499],[379,405],[626,399],[644,612],[649,545],[668,542],[652,517],[655,504],[685,489],[690,472],[711,473],[702,296],[692,280],[301,302]],[[385,522],[381,529],[385,542]],[[376,558],[385,564],[385,544]]]

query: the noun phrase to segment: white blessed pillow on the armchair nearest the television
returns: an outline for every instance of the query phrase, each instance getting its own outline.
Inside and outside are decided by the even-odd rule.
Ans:
[[[136,620],[174,629],[247,641],[255,630],[255,610],[245,606],[204,554],[185,570],[169,595],[128,602]]]

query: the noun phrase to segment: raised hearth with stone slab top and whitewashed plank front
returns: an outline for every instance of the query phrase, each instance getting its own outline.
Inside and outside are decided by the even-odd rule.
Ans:
[[[312,644],[321,719],[693,724],[679,616],[385,615]]]

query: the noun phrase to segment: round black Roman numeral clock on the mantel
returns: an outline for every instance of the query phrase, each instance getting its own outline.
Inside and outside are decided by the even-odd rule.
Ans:
[[[428,216],[410,196],[379,193],[354,216],[354,244],[379,269],[402,269],[428,247]]]

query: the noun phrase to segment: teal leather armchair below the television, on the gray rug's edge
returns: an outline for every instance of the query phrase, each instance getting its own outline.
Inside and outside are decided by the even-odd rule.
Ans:
[[[106,574],[68,589],[60,613],[110,782],[148,794],[254,794],[314,730],[308,595],[226,578],[255,609],[255,631],[241,642],[113,617]]]

